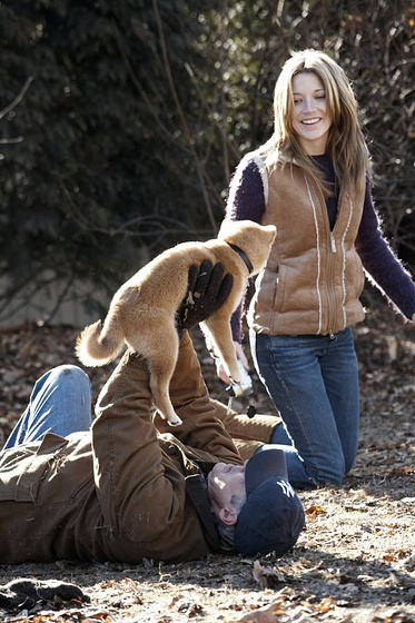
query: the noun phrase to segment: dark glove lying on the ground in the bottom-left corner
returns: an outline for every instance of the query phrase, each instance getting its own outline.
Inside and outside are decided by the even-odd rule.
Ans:
[[[90,601],[76,584],[58,580],[41,581],[20,577],[0,586],[0,609],[8,612],[31,610],[37,604],[55,603],[57,600],[62,602]]]

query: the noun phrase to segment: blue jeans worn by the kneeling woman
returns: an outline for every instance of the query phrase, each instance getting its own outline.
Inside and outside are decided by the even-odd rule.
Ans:
[[[271,443],[286,454],[293,486],[339,484],[358,445],[359,386],[352,328],[330,336],[250,333],[255,367],[283,424]]]

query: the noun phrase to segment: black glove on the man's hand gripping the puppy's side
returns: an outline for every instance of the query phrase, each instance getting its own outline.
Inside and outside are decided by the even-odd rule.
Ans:
[[[191,329],[228,298],[234,284],[234,277],[228,273],[224,277],[224,265],[205,259],[200,267],[192,264],[188,275],[188,290],[177,310],[177,329],[179,334]]]

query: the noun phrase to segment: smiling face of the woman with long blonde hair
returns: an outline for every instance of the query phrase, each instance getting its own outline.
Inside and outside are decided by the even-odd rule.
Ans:
[[[293,78],[293,130],[308,156],[326,150],[332,126],[322,80],[313,71],[296,73]]]

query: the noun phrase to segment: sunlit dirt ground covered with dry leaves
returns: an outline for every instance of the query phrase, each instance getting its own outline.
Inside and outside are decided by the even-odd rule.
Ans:
[[[1,330],[0,444],[36,378],[53,365],[76,363],[77,333],[37,326]],[[192,335],[213,396],[226,400],[200,335]],[[0,609],[0,621],[415,622],[415,330],[383,304],[355,337],[362,386],[357,464],[344,486],[299,493],[307,525],[289,555],[255,561],[215,555],[176,565],[148,560],[136,566],[0,565],[0,585],[16,577],[58,578],[90,597],[86,604],[53,599],[14,613]],[[111,369],[88,370],[95,395]],[[271,413],[257,379],[255,388],[258,411]]]

